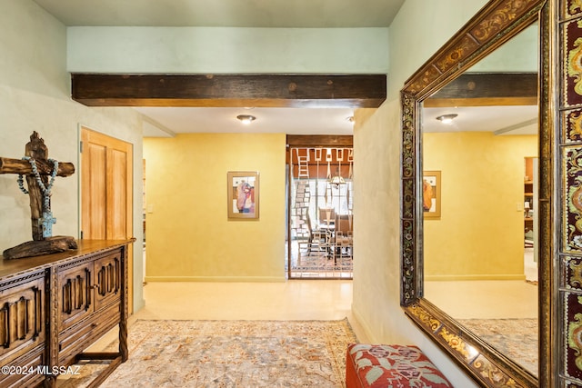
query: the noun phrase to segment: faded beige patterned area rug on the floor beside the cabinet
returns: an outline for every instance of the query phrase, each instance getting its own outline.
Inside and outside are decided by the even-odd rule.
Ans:
[[[356,342],[347,319],[139,320],[129,360],[101,386],[342,387],[347,344]]]

